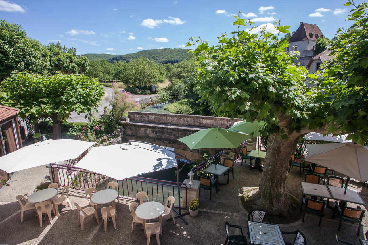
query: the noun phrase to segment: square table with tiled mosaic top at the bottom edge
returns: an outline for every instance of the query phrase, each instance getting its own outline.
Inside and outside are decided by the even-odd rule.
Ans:
[[[280,226],[247,221],[249,244],[285,245]]]

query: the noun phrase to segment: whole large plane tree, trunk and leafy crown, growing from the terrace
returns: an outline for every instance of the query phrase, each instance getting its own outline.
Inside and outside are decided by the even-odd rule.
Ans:
[[[284,52],[288,43],[280,42],[278,36],[289,32],[289,26],[276,26],[278,35],[267,33],[265,28],[259,34],[252,34],[254,23],[248,24],[249,28],[243,31],[247,23],[238,17],[233,23],[237,26],[234,36],[220,36],[217,46],[209,47],[200,38],[198,42],[190,38],[188,45],[196,46],[193,53],[197,55],[198,65],[195,92],[212,111],[265,122],[261,133],[268,135],[267,153],[259,191],[251,202],[270,214],[287,216],[293,213],[286,188],[287,170],[300,137],[308,132],[341,133],[335,122],[341,123],[339,128],[344,129],[350,124],[350,117],[345,117],[336,107],[330,107],[329,111],[320,109],[323,102],[329,104],[333,97],[308,88],[307,70],[294,63],[297,53]],[[353,82],[350,77],[347,79],[348,83]],[[336,96],[337,88],[333,88],[336,90],[331,90],[331,96]],[[350,91],[360,96],[358,91]],[[334,121],[335,117],[339,120]],[[354,139],[363,140],[362,135],[368,135],[365,124],[356,124],[354,133],[363,133],[354,135]]]

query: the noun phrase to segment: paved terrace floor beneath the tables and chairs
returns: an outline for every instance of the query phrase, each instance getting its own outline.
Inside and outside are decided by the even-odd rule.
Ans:
[[[201,191],[199,198],[200,212],[192,218],[185,216],[188,221],[186,226],[180,219],[174,225],[172,221],[163,221],[163,236],[160,243],[165,244],[223,244],[226,238],[224,231],[225,221],[238,224],[247,234],[247,212],[241,205],[240,196],[244,189],[257,187],[261,174],[258,170],[249,170],[249,166],[240,163],[235,164],[235,179],[230,178],[230,184],[220,186],[221,191],[216,194],[213,189],[212,200],[209,200],[209,191]],[[287,179],[289,192],[301,199],[300,181],[304,178],[298,176],[298,169],[290,171]],[[120,200],[117,205],[117,230],[114,230],[112,222],[108,223],[107,232],[103,223],[96,223],[92,217],[85,219],[84,231],[78,226],[78,213],[74,206],[77,202],[86,207],[88,200],[84,192],[70,190],[69,199],[73,204],[73,210],[60,205],[60,217],[53,217],[53,224],[49,224],[48,218],[39,227],[35,211],[26,211],[23,223],[20,222],[20,206],[15,196],[21,194],[31,195],[35,187],[49,180],[49,172],[45,166],[35,167],[20,171],[11,181],[11,187],[5,187],[0,191],[0,244],[146,244],[141,225],[133,228],[131,233],[131,215],[128,209],[129,201]],[[221,177],[225,182],[227,177]],[[368,203],[368,189],[361,183],[351,181],[349,188],[360,192],[363,200]],[[61,189],[61,188],[60,188]],[[60,192],[59,189],[59,192]],[[100,212],[100,211],[99,211]],[[281,225],[283,231],[301,230],[307,237],[308,244],[336,244],[335,236],[359,244],[358,238],[363,238],[367,230],[367,217],[364,218],[361,235],[356,235],[357,226],[343,222],[342,230],[337,231],[338,220],[328,219],[331,209],[325,210],[321,227],[318,227],[318,217],[308,215],[304,223],[297,221],[293,224]],[[286,235],[285,240],[293,242],[292,235]],[[151,237],[151,244],[156,244],[155,236]]]

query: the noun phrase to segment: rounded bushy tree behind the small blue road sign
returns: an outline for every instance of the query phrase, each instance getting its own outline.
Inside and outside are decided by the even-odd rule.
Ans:
[[[165,80],[158,65],[148,58],[139,57],[128,63],[127,72],[121,81],[127,87],[139,89],[151,89]]]

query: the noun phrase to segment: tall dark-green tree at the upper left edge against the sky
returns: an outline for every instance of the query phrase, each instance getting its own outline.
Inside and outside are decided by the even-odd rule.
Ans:
[[[27,37],[22,26],[0,19],[0,80],[13,71],[47,74],[48,53],[37,40]]]

